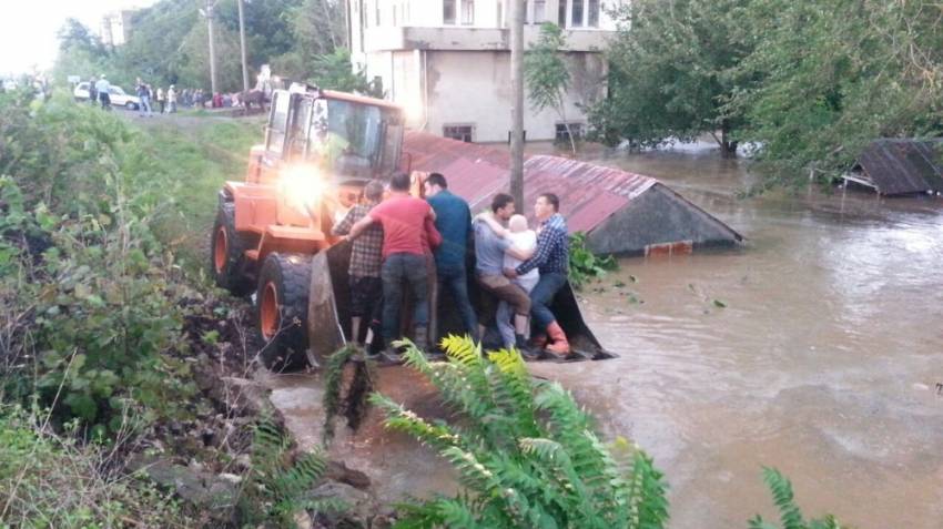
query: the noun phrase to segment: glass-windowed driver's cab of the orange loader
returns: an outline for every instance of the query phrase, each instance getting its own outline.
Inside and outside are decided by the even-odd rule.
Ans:
[[[276,90],[265,157],[312,163],[335,184],[363,184],[399,166],[403,112],[386,101],[307,85]]]

